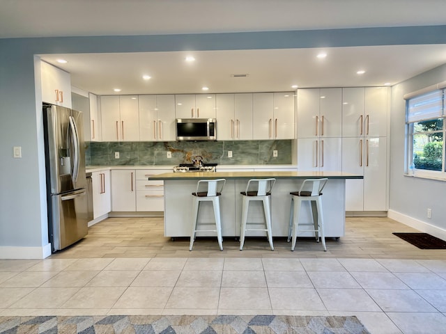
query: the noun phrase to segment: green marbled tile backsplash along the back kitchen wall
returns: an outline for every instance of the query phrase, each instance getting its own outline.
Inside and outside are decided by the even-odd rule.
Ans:
[[[86,142],[87,166],[156,166],[191,162],[201,155],[203,161],[220,165],[291,164],[292,141],[133,141]],[[277,157],[272,151],[277,150]],[[167,152],[172,157],[167,158]],[[232,158],[228,158],[232,151]],[[119,159],[114,153],[119,152]]]

